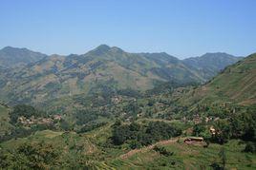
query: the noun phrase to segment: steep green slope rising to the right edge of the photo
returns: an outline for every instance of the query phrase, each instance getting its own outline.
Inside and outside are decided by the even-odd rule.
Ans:
[[[206,85],[181,97],[184,104],[256,104],[256,54],[227,66]]]

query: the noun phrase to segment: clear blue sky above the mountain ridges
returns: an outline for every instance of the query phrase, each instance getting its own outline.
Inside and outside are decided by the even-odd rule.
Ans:
[[[256,52],[255,0],[1,0],[0,48],[82,54],[101,44],[179,58]]]

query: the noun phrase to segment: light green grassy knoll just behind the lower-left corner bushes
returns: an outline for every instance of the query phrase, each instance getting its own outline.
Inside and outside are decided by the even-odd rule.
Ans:
[[[70,162],[71,164],[75,164],[75,161],[80,159],[81,156],[89,156],[94,160],[92,154],[100,153],[96,145],[86,137],[79,136],[73,132],[53,132],[51,130],[38,131],[28,138],[18,138],[16,140],[2,142],[0,147],[5,150],[13,150],[26,142],[53,144],[53,147],[59,152],[62,163]]]

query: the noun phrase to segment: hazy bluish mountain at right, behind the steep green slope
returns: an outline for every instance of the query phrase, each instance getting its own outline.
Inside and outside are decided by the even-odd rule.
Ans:
[[[233,65],[243,57],[235,57],[233,55],[216,52],[205,53],[200,57],[191,57],[184,59],[182,62],[185,66],[194,69],[204,79],[210,79],[217,75],[220,70],[223,70],[225,66]]]

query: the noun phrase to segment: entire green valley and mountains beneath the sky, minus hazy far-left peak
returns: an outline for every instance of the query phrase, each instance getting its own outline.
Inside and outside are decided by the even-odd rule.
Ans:
[[[256,168],[255,54],[180,60],[101,45],[0,77],[1,168]]]

